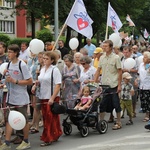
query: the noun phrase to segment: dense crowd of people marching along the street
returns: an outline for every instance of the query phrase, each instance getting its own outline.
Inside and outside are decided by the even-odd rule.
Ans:
[[[111,40],[105,40],[95,46],[91,39],[79,51],[72,52],[64,46],[64,41],[58,41],[58,49],[53,49],[54,42],[45,43],[45,51],[29,56],[27,43],[21,47],[16,44],[6,45],[0,42],[0,64],[8,62],[4,73],[1,74],[0,88],[7,86],[8,92],[3,96],[1,104],[5,117],[5,141],[0,142],[0,150],[11,149],[11,142],[20,144],[16,149],[30,148],[29,132],[39,132],[40,125],[43,141],[40,146],[51,145],[62,135],[60,116],[53,114],[51,106],[60,100],[68,109],[86,110],[90,107],[89,83],[100,83],[109,86],[105,90],[100,104],[100,119],[105,113],[110,113],[108,122],[114,121],[113,110],[116,111],[116,121],[113,130],[122,128],[121,118],[127,112],[129,120],[126,125],[133,125],[137,117],[136,105],[141,102],[141,110],[145,114],[143,121],[150,119],[150,45],[142,41],[122,40],[122,46],[113,46]],[[138,58],[143,56],[139,63]],[[135,60],[135,65],[128,69],[125,62],[128,58]],[[81,101],[76,104],[75,100]],[[13,132],[8,122],[9,110],[21,112],[26,119],[26,125]],[[21,107],[20,107],[21,106]],[[121,111],[123,114],[121,115]],[[29,114],[32,121],[29,122]]]

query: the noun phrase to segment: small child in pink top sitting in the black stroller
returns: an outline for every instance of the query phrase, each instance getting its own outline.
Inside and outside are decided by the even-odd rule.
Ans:
[[[92,97],[90,96],[90,87],[84,86],[82,89],[83,96],[81,97],[80,102],[75,106],[76,110],[87,110],[91,103]]]

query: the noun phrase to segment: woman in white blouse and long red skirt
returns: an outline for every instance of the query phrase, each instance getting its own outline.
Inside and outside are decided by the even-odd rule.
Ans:
[[[62,135],[59,115],[51,112],[51,105],[59,102],[61,73],[56,65],[56,54],[47,51],[43,55],[44,67],[41,68],[36,85],[40,84],[39,99],[43,115],[43,133],[41,146],[48,146]],[[53,80],[52,80],[53,76]]]

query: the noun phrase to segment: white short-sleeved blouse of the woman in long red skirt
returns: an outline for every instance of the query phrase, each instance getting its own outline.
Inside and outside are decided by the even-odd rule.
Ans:
[[[62,82],[62,76],[57,67],[51,65],[46,71],[45,71],[45,67],[43,67],[40,71],[40,75],[38,76],[38,80],[40,82],[39,99],[50,99],[51,97],[52,70],[53,70],[53,91],[54,91],[55,85],[61,84]],[[58,96],[59,95],[60,93],[58,93]]]

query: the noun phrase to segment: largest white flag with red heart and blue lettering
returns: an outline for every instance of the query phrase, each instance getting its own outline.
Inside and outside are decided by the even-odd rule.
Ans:
[[[93,36],[92,23],[93,20],[87,14],[83,1],[75,0],[65,24],[85,37],[91,39]]]

